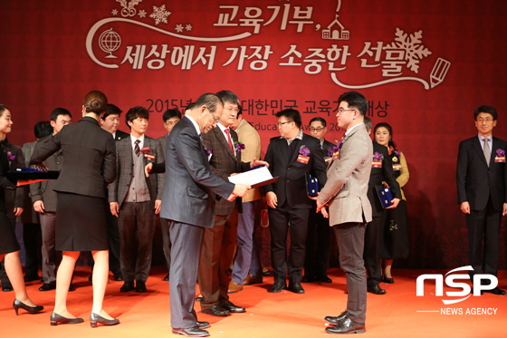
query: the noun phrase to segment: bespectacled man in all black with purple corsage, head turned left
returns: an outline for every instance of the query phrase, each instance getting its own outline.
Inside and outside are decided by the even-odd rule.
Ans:
[[[307,194],[307,179],[315,177],[320,188],[326,183],[326,164],[319,140],[301,130],[299,111],[287,109],[276,114],[280,137],[270,140],[264,160],[269,163],[273,177],[279,179],[264,186],[269,208],[271,253],[274,284],[269,290],[279,293],[286,288],[304,294],[301,286],[304,266],[304,247],[308,230],[311,199]],[[289,224],[291,225],[289,227]],[[287,233],[291,233],[291,247],[287,259]]]

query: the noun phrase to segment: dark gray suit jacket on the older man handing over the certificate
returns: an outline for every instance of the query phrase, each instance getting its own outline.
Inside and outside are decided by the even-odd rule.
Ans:
[[[212,131],[209,131],[212,132]],[[160,217],[213,227],[215,194],[229,198],[234,184],[211,172],[206,150],[186,116],[171,130],[166,148],[166,185]]]

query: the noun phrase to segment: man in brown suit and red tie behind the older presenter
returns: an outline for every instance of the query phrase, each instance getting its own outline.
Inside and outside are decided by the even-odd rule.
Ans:
[[[231,91],[217,92],[216,96],[224,102],[224,113],[217,126],[203,135],[203,144],[210,152],[211,171],[222,179],[251,167],[241,161],[241,149],[234,130],[229,128],[235,121],[239,99]],[[230,217],[241,198],[230,202],[221,198],[215,203],[215,221],[213,227],[205,229],[201,258],[198,270],[198,282],[203,314],[225,316],[230,313],[244,313],[242,306],[236,306],[229,300],[229,266],[234,260],[234,248],[237,235],[237,217]],[[240,210],[241,211],[241,210]]]

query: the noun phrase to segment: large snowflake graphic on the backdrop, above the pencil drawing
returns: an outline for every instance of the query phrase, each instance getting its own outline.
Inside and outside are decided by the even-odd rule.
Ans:
[[[405,60],[408,61],[407,68],[412,72],[419,71],[419,61],[431,54],[431,52],[422,45],[423,31],[417,31],[414,34],[403,32],[397,28],[396,39],[394,43],[387,44],[384,49],[397,49],[405,51]]]

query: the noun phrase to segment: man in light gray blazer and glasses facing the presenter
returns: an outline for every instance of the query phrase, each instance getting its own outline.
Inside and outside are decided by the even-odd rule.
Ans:
[[[364,333],[367,280],[363,261],[365,227],[371,221],[368,180],[373,146],[363,123],[368,101],[359,92],[344,92],[339,98],[337,121],[347,130],[328,167],[328,181],[317,199],[317,212],[328,216],[340,250],[340,266],[347,276],[347,310],[339,316],[327,316],[335,326],[327,333]]]

